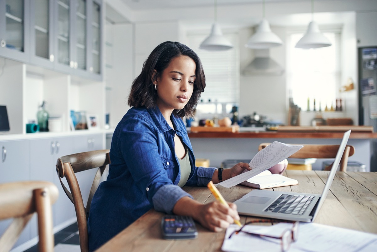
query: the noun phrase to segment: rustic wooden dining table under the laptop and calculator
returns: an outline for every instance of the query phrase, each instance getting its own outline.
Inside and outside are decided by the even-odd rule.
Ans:
[[[299,184],[264,190],[321,194],[328,171],[287,170],[283,175],[296,179]],[[201,203],[215,200],[207,187],[182,188]],[[231,188],[218,185],[217,188],[228,202],[253,190],[241,185]],[[97,251],[221,251],[225,230],[212,232],[199,223],[196,223],[198,237],[195,239],[164,240],[161,234],[163,215],[153,209],[148,211]],[[256,219],[240,217],[242,224]],[[337,172],[314,223],[377,234],[377,172]]]

